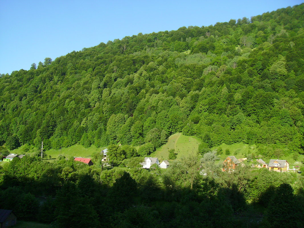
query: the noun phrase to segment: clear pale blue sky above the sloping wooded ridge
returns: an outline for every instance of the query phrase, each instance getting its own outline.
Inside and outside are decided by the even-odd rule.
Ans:
[[[303,0],[0,0],[0,73],[138,33],[250,18]]]

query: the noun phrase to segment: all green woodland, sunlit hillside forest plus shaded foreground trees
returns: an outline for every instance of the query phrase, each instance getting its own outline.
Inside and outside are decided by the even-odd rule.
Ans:
[[[42,140],[45,150],[107,146],[112,168],[100,153],[91,167],[14,158],[0,166],[0,208],[66,228],[304,227],[303,175],[222,172],[211,149],[304,154],[303,50],[301,4],[126,36],[2,74],[1,155],[38,151]],[[174,160],[171,151],[168,169],[140,168],[178,132],[202,140],[197,154]]]

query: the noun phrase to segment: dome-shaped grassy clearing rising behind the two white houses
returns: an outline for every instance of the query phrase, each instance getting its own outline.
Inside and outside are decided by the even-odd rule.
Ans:
[[[177,159],[185,157],[190,153],[197,151],[200,144],[200,140],[195,136],[185,136],[181,133],[176,133],[168,138],[168,142],[152,153],[151,157],[158,157],[159,161],[168,160],[168,150],[175,149],[177,153]]]

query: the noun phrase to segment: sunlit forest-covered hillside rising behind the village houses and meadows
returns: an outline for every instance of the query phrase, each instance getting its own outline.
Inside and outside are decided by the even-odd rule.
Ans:
[[[154,148],[173,133],[303,154],[304,5],[126,36],[0,78],[0,144]]]

